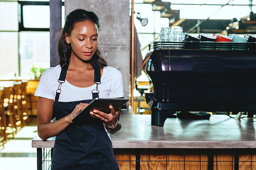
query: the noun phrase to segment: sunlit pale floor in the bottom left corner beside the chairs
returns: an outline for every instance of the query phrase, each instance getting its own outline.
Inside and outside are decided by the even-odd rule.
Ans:
[[[36,148],[31,147],[31,140],[36,135],[36,117],[31,117],[27,119],[27,126],[7,141],[4,149],[0,150],[0,169],[35,170]]]

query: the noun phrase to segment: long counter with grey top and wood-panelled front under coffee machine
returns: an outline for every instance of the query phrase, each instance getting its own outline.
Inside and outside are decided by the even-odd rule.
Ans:
[[[180,159],[183,162],[179,165],[182,169],[183,166],[200,166],[198,169],[213,169],[216,166],[218,169],[225,169],[221,166],[227,169],[232,167],[243,169],[240,167],[242,166],[246,169],[247,166],[251,166],[253,169],[256,167],[254,164],[256,122],[254,121],[251,118],[238,120],[227,115],[211,115],[209,120],[167,118],[164,126],[158,127],[151,126],[151,115],[126,113],[120,115],[122,129],[111,135],[111,139],[116,158],[120,160],[118,162],[120,169],[129,166],[130,169],[133,169],[131,167],[139,169],[150,165],[158,166],[150,169],[162,169]],[[41,152],[41,148],[53,148],[53,146],[54,137],[47,141],[42,141],[38,137],[32,140],[32,147],[37,148],[38,153]],[[174,151],[181,154],[175,154]],[[157,154],[154,156],[154,153]],[[190,155],[187,154],[186,159],[186,154],[183,153]],[[216,153],[219,154],[218,159],[222,160],[218,161]],[[252,159],[241,161],[250,155]],[[151,159],[156,157],[158,160],[179,157],[179,160],[151,164]],[[124,159],[130,163],[125,162]],[[191,159],[195,160],[186,162]],[[41,158],[38,158],[38,161],[42,162]]]

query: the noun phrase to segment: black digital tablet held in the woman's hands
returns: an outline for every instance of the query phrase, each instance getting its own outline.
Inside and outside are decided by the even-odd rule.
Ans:
[[[90,111],[99,110],[105,113],[110,113],[109,106],[112,105],[115,110],[118,110],[122,107],[129,99],[103,99],[103,98],[95,98],[89,105],[80,111],[73,119],[73,122],[83,122],[83,123],[94,123],[100,122],[101,120],[98,118],[94,118],[91,116]]]

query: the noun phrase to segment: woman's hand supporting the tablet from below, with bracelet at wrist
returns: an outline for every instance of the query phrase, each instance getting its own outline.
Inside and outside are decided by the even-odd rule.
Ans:
[[[90,114],[95,118],[101,119],[102,122],[106,124],[106,126],[112,127],[117,124],[117,121],[118,121],[117,118],[118,118],[118,115],[120,114],[120,109],[118,111],[115,111],[113,106],[109,106],[109,108],[111,111],[109,114],[99,110],[93,110],[90,112]]]

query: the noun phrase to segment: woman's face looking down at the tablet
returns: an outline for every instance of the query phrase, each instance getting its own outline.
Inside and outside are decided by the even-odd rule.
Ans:
[[[97,25],[90,20],[75,23],[71,34],[66,33],[66,42],[71,44],[71,57],[89,61],[98,46]]]

